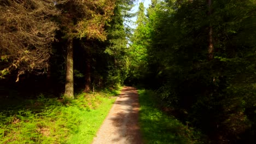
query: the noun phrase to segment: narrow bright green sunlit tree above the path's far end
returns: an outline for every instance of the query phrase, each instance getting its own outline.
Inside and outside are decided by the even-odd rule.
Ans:
[[[136,29],[131,37],[131,45],[129,47],[129,84],[135,84],[144,79],[147,74],[147,46],[149,39],[149,27],[144,13],[144,4],[139,3],[137,11]]]

